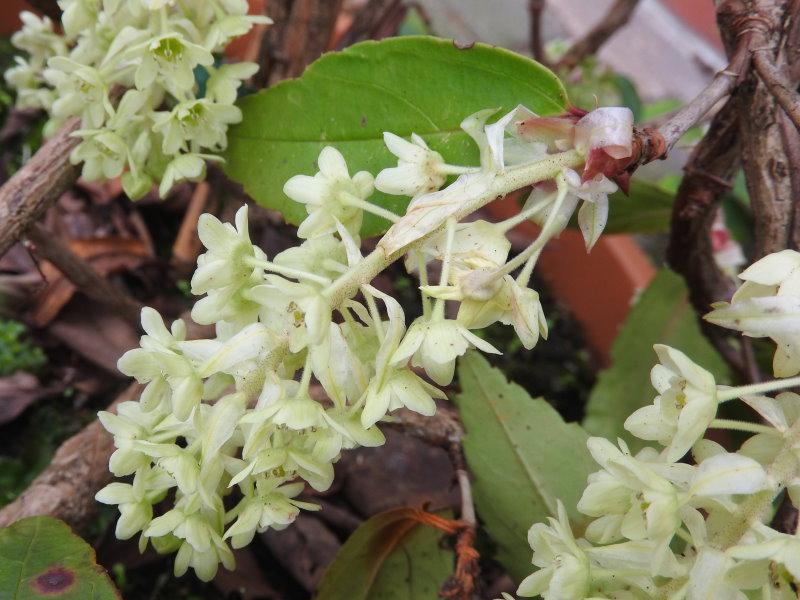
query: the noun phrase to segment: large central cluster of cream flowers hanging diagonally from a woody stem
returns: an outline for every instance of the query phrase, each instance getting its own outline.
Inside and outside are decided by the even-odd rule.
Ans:
[[[574,116],[552,120],[557,138],[550,121],[531,123],[539,117],[523,108],[489,125],[494,111],[482,111],[463,125],[481,152],[476,167],[447,164],[418,136],[387,133],[399,162],[373,178],[351,175],[342,154],[324,148],[316,174],[286,182],[308,217],[302,243],[274,257],[250,240],[246,207],[235,226],[203,215],[198,233],[207,251],[191,281],[203,298],[192,319],[215,325],[216,336],[187,340],[182,321],[167,328],[145,309],[141,347],[119,368],[146,387],[138,402],[101,414],[117,448],[111,471],[133,476],[97,495],[119,505],[117,535],[177,551],[177,574],[192,567],[209,579],[219,563],[231,566],[231,547],[315,510],[300,499],[305,486],[327,490],[343,450],[383,444],[377,423],[389,413],[434,414],[459,356],[499,352],[475,330],[512,325],[527,348],[546,336],[539,297],[528,287],[536,258],[581,202],[591,245],[614,188],[573,169],[589,151],[618,153],[630,142],[627,109],[602,110],[606,117],[587,116],[588,127]],[[451,175],[458,177],[439,191]],[[502,190],[527,185],[536,189],[519,216],[460,222]],[[412,197],[408,214],[371,203],[376,187]],[[367,256],[359,238],[365,212],[393,223]],[[509,258],[506,233],[529,218],[541,221],[542,234]],[[410,324],[397,300],[370,283],[401,258],[420,280],[422,316]],[[436,284],[428,281],[432,263]],[[448,303],[458,308],[446,310]],[[171,508],[155,516],[166,497]]]

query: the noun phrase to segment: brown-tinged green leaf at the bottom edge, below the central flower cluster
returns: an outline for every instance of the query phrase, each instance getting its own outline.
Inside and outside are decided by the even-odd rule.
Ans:
[[[316,600],[437,598],[453,572],[454,554],[419,515],[397,508],[363,523],[325,571]]]

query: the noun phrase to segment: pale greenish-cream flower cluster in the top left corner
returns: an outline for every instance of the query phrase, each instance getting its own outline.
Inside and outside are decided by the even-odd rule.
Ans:
[[[17,103],[47,111],[51,135],[80,117],[73,163],[87,180],[122,176],[131,198],[154,184],[165,196],[205,176],[219,160],[233,105],[253,63],[219,64],[215,54],[269,19],[248,16],[247,0],[59,0],[63,34],[47,17],[22,13],[6,80]],[[207,79],[200,89],[196,73]],[[117,101],[117,98],[119,100]]]

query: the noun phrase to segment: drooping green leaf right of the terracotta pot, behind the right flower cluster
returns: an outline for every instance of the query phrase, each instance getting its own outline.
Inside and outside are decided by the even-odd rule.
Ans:
[[[653,344],[667,344],[708,369],[718,383],[730,381],[723,359],[700,332],[683,278],[661,269],[631,310],[611,348],[611,367],[600,374],[586,405],[583,426],[592,435],[621,437],[633,450],[643,442],[623,428],[637,408],[652,403]]]

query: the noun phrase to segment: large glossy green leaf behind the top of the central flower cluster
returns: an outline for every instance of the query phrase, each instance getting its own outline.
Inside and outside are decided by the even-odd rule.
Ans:
[[[376,175],[396,158],[383,132],[421,135],[453,163],[478,164],[478,153],[459,123],[479,110],[509,111],[524,104],[550,115],[567,104],[564,88],[548,69],[485,44],[459,48],[425,36],[356,44],[326,54],[303,76],[243,98],[244,120],[228,133],[226,172],[259,204],[298,224],[305,208],[283,193],[297,174],[313,175],[324,146],[344,154],[351,174]],[[376,193],[371,201],[403,212],[408,198]],[[388,223],[365,218],[364,235]]]

